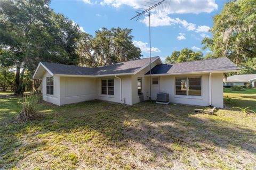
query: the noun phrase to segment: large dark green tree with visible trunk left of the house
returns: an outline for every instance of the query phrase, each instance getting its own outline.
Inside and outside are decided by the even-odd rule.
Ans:
[[[15,92],[39,61],[77,64],[78,25],[53,12],[50,0],[0,1],[0,60],[15,67]]]

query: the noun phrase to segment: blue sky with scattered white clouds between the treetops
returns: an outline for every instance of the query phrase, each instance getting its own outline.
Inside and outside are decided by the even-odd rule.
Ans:
[[[225,3],[214,0],[165,0],[151,13],[152,56],[160,56],[164,60],[174,50],[186,47],[201,50],[203,37],[211,37],[208,30],[213,25],[213,16],[221,11]],[[139,7],[145,8],[145,4],[142,0],[53,0],[50,7],[92,35],[102,27],[133,29],[133,43],[141,48],[143,57],[148,57],[148,18],[130,20]],[[203,53],[205,55],[207,49]]]

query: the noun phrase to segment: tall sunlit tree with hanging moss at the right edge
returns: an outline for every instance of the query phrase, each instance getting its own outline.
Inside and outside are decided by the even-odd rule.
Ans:
[[[242,68],[239,74],[256,73],[256,1],[230,1],[214,16],[212,38],[204,38],[209,58],[228,57]]]

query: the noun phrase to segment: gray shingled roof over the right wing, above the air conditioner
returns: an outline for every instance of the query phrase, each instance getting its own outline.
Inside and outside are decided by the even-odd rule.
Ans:
[[[222,57],[211,60],[156,65],[151,70],[151,74],[179,74],[203,71],[225,72],[228,70],[239,70],[239,68],[227,57]],[[149,72],[147,72],[146,74],[149,74]]]

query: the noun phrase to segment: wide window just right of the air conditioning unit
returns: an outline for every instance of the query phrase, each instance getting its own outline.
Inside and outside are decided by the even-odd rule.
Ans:
[[[201,96],[201,77],[175,78],[175,94]]]

